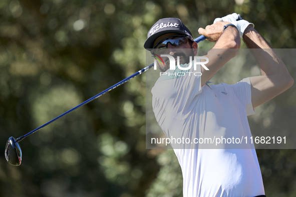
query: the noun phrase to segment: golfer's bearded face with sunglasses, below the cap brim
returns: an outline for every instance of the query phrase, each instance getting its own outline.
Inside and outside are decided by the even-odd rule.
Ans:
[[[163,47],[163,48],[162,48]],[[159,36],[154,41],[154,50],[157,55],[169,54],[172,55],[177,63],[177,56],[179,56],[179,63],[184,64],[189,62],[190,56],[197,54],[197,43],[191,43],[189,38],[184,35],[176,35],[175,33],[166,33]],[[164,72],[169,69],[169,59],[167,57],[162,57],[164,64],[157,62],[158,68]]]

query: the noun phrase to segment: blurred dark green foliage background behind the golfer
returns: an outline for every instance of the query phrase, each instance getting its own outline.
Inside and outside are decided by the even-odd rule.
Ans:
[[[197,37],[199,27],[237,12],[272,47],[294,51],[295,6],[293,0],[1,0],[0,196],[182,196],[174,152],[145,148],[145,74],[23,140],[20,166],[6,161],[5,144],[145,67],[143,44],[159,18],[178,17]],[[295,64],[287,68],[295,80]],[[294,132],[295,86],[256,108],[251,130]],[[256,151],[266,195],[296,196],[296,150]]]

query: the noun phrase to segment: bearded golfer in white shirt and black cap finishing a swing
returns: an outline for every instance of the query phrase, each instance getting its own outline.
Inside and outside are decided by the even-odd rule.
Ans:
[[[162,74],[151,90],[156,120],[168,138],[249,137],[247,115],[293,84],[284,63],[254,25],[237,18],[238,14],[229,14],[198,29],[215,42],[203,56],[209,59],[204,66],[190,57],[197,54],[198,46],[180,19],[162,18],[149,30],[144,47],[163,58],[157,65],[162,73],[169,73]],[[237,54],[240,37],[249,48],[257,48],[253,55],[261,75],[235,84],[209,85],[207,81]],[[176,60],[174,69],[170,56]],[[185,74],[176,74],[186,68],[190,69]],[[190,74],[194,72],[201,74]],[[221,144],[218,148],[186,145],[172,145],[182,169],[183,196],[265,196],[253,146],[231,149]]]

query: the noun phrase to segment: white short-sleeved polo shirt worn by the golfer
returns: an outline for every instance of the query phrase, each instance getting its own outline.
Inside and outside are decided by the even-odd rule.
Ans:
[[[254,146],[244,142],[251,136],[247,115],[254,113],[250,79],[201,87],[200,76],[194,75],[200,66],[185,75],[178,68],[168,71],[170,75],[160,76],[151,90],[152,107],[166,137],[191,140],[172,144],[182,169],[183,196],[263,195]],[[226,142],[192,143],[194,138],[215,143],[214,137],[242,139],[244,149]]]

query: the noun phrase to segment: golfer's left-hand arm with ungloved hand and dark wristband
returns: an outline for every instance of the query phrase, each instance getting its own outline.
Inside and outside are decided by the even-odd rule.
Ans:
[[[209,58],[206,64],[209,70],[201,67],[201,86],[203,86],[225,63],[233,58],[240,47],[240,36],[236,27],[228,26],[225,30],[224,25],[230,22],[216,22],[206,26],[205,29],[199,28],[198,32],[208,40],[216,42],[214,47],[204,56]]]

